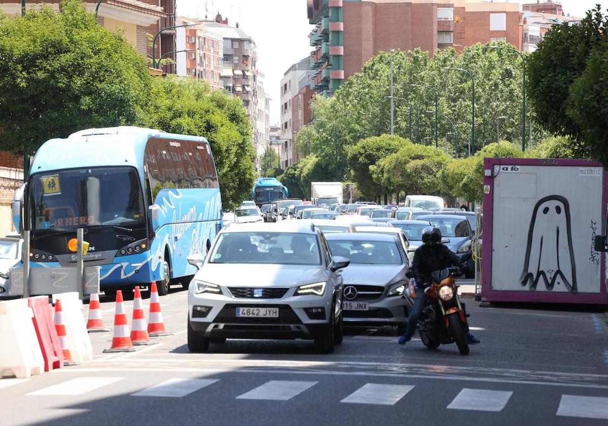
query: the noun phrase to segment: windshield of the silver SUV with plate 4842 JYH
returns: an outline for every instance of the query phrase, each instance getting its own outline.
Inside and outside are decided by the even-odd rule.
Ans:
[[[219,234],[211,264],[320,265],[314,234],[226,232]]]

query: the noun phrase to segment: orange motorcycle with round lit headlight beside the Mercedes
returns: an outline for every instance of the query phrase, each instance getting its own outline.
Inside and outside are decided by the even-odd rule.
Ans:
[[[440,344],[456,343],[461,355],[469,354],[469,343],[466,340],[468,325],[465,306],[458,297],[458,286],[455,278],[461,276],[459,268],[446,268],[430,274],[431,281],[424,289],[427,300],[423,312],[418,318],[418,333],[424,346],[437,349]],[[408,278],[413,276],[408,273]],[[404,298],[410,309],[416,298],[416,287],[410,279],[408,293]]]

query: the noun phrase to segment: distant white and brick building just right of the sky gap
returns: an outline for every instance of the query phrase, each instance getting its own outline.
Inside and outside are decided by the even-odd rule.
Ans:
[[[309,58],[290,66],[281,80],[281,168],[287,167],[299,161],[297,153],[294,150],[295,134],[300,131],[303,125],[310,121],[310,105],[309,101],[312,96],[308,96],[308,102],[305,102],[305,94],[302,91],[308,86],[309,80],[313,76]],[[308,111],[305,113],[305,111]]]

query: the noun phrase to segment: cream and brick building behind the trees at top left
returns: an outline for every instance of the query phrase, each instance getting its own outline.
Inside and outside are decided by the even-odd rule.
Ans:
[[[84,0],[86,9],[94,12],[97,0]],[[60,0],[28,1],[26,10],[45,4],[59,10]],[[7,15],[21,15],[21,0],[2,0],[0,10]],[[26,12],[27,13],[27,12]],[[145,55],[152,55],[152,47],[148,45],[148,34],[152,37],[160,29],[175,25],[175,0],[104,0],[99,5],[97,21],[110,30],[121,30],[123,37],[133,44],[137,51]],[[175,51],[175,31],[163,31],[157,37],[156,57]],[[166,57],[175,57],[173,54]],[[162,67],[164,72],[174,73],[173,64]]]

